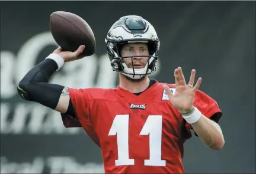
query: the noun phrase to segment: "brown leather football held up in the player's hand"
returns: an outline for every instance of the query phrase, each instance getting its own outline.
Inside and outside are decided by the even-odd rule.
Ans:
[[[82,56],[94,54],[96,41],[91,27],[84,19],[71,12],[56,11],[50,15],[50,31],[64,51],[75,51],[85,45]]]

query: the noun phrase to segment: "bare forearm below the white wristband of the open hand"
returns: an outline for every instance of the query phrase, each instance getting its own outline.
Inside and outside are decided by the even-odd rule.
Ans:
[[[191,126],[210,149],[222,149],[225,141],[219,124],[202,114],[200,119],[196,123],[191,124]]]

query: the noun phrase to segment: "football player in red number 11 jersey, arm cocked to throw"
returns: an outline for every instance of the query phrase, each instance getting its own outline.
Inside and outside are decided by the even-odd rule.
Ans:
[[[31,69],[17,86],[25,100],[59,111],[65,127],[83,127],[101,147],[105,173],[184,173],[184,142],[196,136],[210,149],[224,145],[216,101],[199,90],[191,71],[188,83],[181,67],[175,84],[159,83],[148,75],[156,71],[160,41],[142,17],[121,17],[105,38],[117,88],[75,89],[48,83],[75,52],[57,48]],[[171,76],[171,75],[170,75]]]

